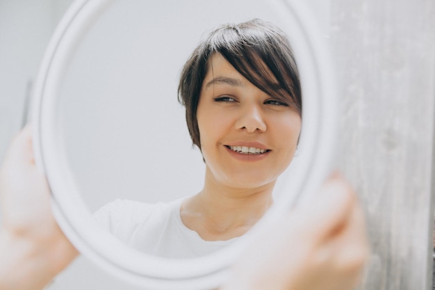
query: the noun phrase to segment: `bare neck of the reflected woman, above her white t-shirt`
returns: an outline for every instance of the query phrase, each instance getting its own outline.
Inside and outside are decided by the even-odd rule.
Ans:
[[[206,241],[224,241],[245,234],[273,203],[275,182],[237,188],[206,174],[202,191],[183,202],[181,219]]]

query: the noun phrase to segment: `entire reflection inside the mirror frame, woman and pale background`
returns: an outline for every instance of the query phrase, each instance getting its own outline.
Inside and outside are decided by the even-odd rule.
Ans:
[[[210,2],[195,17],[181,1],[118,2],[60,86],[69,166],[117,239],[159,257],[215,252],[265,214],[295,155],[302,100],[288,41],[264,1],[243,15],[243,1]]]

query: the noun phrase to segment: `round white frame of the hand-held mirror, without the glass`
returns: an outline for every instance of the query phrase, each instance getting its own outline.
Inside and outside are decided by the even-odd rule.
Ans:
[[[101,268],[147,289],[211,289],[227,275],[229,265],[249,242],[250,234],[236,245],[205,257],[176,260],[147,255],[126,247],[93,220],[69,170],[58,120],[58,85],[81,37],[114,0],[76,0],[51,38],[33,92],[33,145],[35,160],[47,175],[54,215],[68,239]],[[303,125],[299,141],[298,170],[284,178],[280,190],[288,193],[263,218],[274,218],[296,200],[306,198],[329,174],[336,140],[338,104],[333,70],[313,15],[303,1],[269,0],[284,19],[297,24],[287,33],[299,67],[303,93]],[[286,27],[281,27],[284,32]],[[284,173],[285,175],[286,173]],[[261,230],[261,223],[255,230]],[[252,231],[254,232],[254,231]],[[115,249],[115,250],[114,250]]]

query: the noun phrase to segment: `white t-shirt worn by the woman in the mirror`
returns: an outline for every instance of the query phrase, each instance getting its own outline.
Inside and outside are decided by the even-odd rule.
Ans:
[[[207,255],[237,239],[204,241],[181,221],[182,201],[147,204],[115,200],[101,207],[95,218],[120,241],[159,257],[181,259]]]

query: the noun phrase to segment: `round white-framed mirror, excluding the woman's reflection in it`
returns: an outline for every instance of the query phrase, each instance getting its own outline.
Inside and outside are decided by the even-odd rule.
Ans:
[[[164,207],[202,191],[206,161],[192,146],[185,109],[177,102],[181,70],[209,32],[249,19],[272,22],[286,33],[303,97],[297,156],[274,186],[265,220],[315,190],[334,149],[329,59],[302,3],[79,0],[47,48],[33,122],[36,161],[47,174],[54,213],[83,255],[129,282],[147,289],[211,289],[250,234],[261,230],[257,223],[197,255],[156,255],[126,245],[95,218],[114,200]]]

